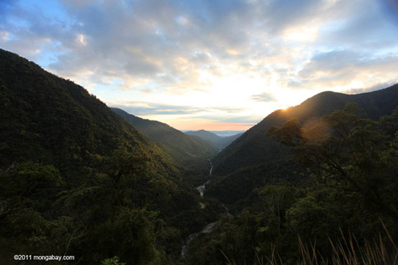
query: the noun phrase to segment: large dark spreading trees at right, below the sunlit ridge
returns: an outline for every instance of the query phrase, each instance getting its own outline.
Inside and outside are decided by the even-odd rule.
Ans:
[[[310,193],[287,213],[291,227],[314,236],[329,223],[331,230],[349,227],[366,237],[377,235],[382,218],[396,229],[397,125],[397,111],[375,122],[348,103],[311,128],[297,120],[270,128],[267,135],[291,146],[312,180]],[[316,223],[307,222],[311,215]]]

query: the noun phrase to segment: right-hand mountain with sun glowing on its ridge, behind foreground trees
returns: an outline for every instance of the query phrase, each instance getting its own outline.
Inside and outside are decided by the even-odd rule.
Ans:
[[[348,102],[357,103],[367,117],[378,120],[383,115],[391,115],[398,106],[398,85],[364,94],[322,92],[299,106],[276,110],[212,159],[214,180],[206,187],[208,196],[225,203],[237,203],[248,199],[253,189],[268,180],[297,179],[305,169],[298,169],[289,158],[289,148],[266,137],[266,131],[291,118],[311,127],[320,117],[344,108]],[[295,171],[296,176],[293,176]]]

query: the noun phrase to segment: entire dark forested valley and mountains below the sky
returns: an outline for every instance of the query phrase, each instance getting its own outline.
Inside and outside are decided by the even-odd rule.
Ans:
[[[397,255],[398,85],[322,92],[221,137],[109,108],[0,50],[0,108],[6,264],[15,253],[74,264]]]

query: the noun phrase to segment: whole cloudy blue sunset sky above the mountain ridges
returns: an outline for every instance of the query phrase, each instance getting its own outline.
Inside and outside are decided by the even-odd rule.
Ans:
[[[246,130],[398,83],[398,1],[0,0],[0,48],[133,115]]]

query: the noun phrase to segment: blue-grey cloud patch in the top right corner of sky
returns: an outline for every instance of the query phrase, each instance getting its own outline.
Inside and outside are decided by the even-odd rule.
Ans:
[[[383,4],[387,1],[338,1],[327,14],[330,27],[321,32],[317,44],[330,46],[334,43],[352,50],[396,47],[398,23],[392,23],[392,15],[388,15],[392,12],[391,6],[396,4]]]

